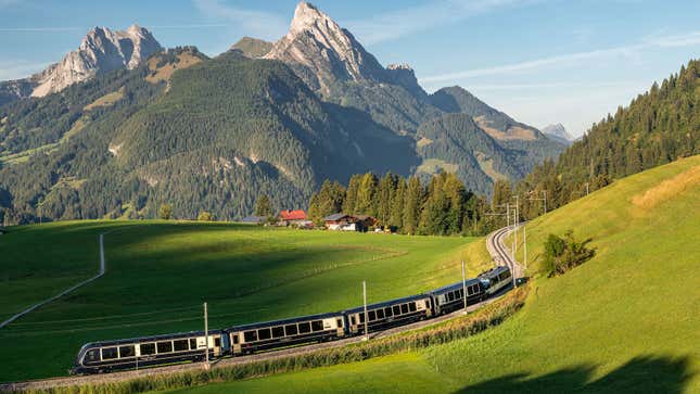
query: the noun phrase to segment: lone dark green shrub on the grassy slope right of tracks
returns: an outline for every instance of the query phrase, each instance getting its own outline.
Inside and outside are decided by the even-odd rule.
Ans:
[[[563,275],[570,269],[582,265],[595,254],[595,249],[586,247],[591,239],[576,242],[572,230],[564,233],[564,237],[549,234],[545,241],[545,268],[549,277]]]

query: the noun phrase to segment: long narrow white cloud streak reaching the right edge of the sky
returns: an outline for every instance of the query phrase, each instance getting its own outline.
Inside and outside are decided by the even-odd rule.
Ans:
[[[506,64],[486,68],[474,68],[462,72],[446,73],[420,78],[421,82],[443,82],[454,81],[456,79],[468,79],[483,76],[518,74],[532,72],[548,66],[585,66],[587,61],[599,60],[603,58],[623,58],[627,60],[637,60],[644,50],[671,48],[671,47],[690,47],[700,45],[700,31],[692,31],[679,36],[665,36],[647,38],[639,43],[621,46],[594,51],[568,53],[540,58],[521,63]]]

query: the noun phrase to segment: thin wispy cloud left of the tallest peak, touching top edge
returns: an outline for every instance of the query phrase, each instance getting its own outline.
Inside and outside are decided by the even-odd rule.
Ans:
[[[220,0],[193,0],[193,3],[203,14],[227,21],[260,38],[278,39],[289,28],[288,18],[270,12],[232,7]]]

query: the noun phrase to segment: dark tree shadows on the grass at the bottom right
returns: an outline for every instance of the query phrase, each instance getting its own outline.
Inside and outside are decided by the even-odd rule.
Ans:
[[[637,356],[608,374],[593,379],[596,367],[581,365],[536,378],[507,374],[463,387],[457,393],[682,393],[693,372],[688,356]]]

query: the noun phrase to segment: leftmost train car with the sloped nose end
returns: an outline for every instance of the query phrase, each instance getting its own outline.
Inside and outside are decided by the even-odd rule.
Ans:
[[[73,374],[138,369],[153,365],[203,360],[206,349],[204,331],[92,342],[82,345],[75,359]],[[209,358],[228,352],[228,338],[220,330],[208,335]]]

